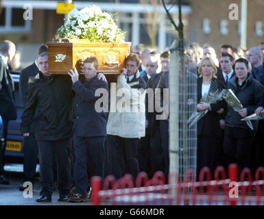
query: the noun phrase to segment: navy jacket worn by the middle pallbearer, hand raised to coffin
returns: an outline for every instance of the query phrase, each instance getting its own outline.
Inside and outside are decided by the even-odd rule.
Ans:
[[[99,88],[104,88],[108,94],[108,83],[97,79],[97,77],[83,83],[80,81],[73,83],[72,89],[75,91],[73,131],[79,137],[106,136],[107,114],[106,112],[96,112],[95,103],[99,98],[108,102],[108,95],[95,96],[95,92]]]

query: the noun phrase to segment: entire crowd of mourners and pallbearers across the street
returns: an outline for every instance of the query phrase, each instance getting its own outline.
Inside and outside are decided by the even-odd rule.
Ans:
[[[8,122],[16,120],[12,67],[8,66],[15,51],[10,40],[1,42],[0,114],[5,139],[0,153],[1,184],[10,183],[3,165]],[[227,170],[235,163],[239,176],[243,168],[254,172],[264,166],[264,122],[252,120],[251,129],[241,120],[264,109],[263,54],[264,42],[250,49],[224,44],[219,51],[192,43],[184,51],[185,77],[197,81],[195,110],[208,111],[195,123],[197,177],[205,166],[213,175],[217,166]],[[168,179],[169,98],[165,88],[174,74],[170,55],[169,49],[138,45],[125,58],[120,75],[101,73],[96,57],[84,60],[83,73],[74,68],[67,75],[52,75],[47,46],[39,48],[38,59],[21,70],[19,81],[24,181],[35,183],[39,157],[42,190],[37,202],[51,202],[55,181],[58,201],[82,202],[91,194],[93,176],[113,175],[118,180],[130,174],[136,179],[141,171],[153,177],[160,170]],[[224,99],[201,101],[208,93],[223,89],[232,90],[241,110],[235,111]]]

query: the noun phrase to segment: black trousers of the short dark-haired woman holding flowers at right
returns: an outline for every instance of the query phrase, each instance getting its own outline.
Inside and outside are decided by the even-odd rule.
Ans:
[[[243,168],[250,167],[250,153],[254,141],[254,132],[250,129],[225,127],[224,154],[228,164],[238,164],[239,181]]]

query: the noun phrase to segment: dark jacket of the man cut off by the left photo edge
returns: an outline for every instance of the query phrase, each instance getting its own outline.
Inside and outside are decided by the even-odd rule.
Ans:
[[[6,120],[16,120],[14,81],[0,57],[0,115]]]

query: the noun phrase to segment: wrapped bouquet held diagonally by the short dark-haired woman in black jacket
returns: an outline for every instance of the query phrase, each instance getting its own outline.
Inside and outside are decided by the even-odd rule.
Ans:
[[[231,89],[223,90],[223,98],[230,105],[230,107],[235,110],[235,112],[239,112],[243,109],[243,105],[240,103],[239,99],[237,99],[237,96],[234,94],[234,92],[232,92]],[[245,122],[248,124],[248,127],[253,130],[250,120],[245,120]]]

